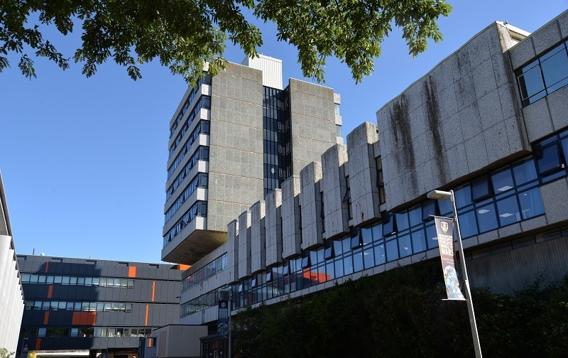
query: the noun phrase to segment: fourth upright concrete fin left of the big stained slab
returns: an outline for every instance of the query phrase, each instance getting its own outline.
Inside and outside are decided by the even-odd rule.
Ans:
[[[282,183],[282,257],[299,255],[302,251],[300,230],[300,175],[292,175]]]

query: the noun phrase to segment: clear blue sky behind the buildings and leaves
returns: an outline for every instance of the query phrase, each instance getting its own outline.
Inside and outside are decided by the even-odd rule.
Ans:
[[[349,69],[330,59],[325,85],[342,94],[344,136],[408,85],[493,21],[525,31],[568,8],[566,0],[449,1],[441,43],[413,59],[400,32],[383,43],[375,72],[355,85]],[[262,24],[259,53],[283,60],[283,77],[302,78],[295,48],[275,40],[275,27]],[[80,33],[58,38],[66,55]],[[228,48],[226,59],[244,54]],[[12,59],[0,73],[0,170],[18,254],[44,252],[128,261],[160,260],[168,123],[185,92],[181,77],[158,63],[142,67],[133,82],[114,63],[94,77],[81,65],[62,71],[35,60],[38,78],[24,78]]]

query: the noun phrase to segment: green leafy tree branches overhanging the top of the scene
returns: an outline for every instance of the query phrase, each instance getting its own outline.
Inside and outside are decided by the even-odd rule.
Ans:
[[[72,58],[87,77],[112,59],[136,80],[138,65],[157,58],[193,82],[204,63],[212,75],[224,66],[226,40],[257,55],[262,37],[251,21],[258,18],[274,22],[278,40],[297,48],[305,77],[323,82],[326,60],[333,56],[360,82],[373,71],[393,26],[402,28],[416,56],[428,39],[442,39],[437,20],[451,9],[445,0],[0,0],[0,72],[9,67],[10,53],[18,54],[26,77],[36,77],[33,55],[67,69],[71,58],[40,26],[67,35],[80,23],[82,43]]]

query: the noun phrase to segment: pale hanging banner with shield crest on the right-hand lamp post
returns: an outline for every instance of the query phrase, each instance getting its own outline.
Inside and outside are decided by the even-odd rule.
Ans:
[[[442,259],[444,283],[449,300],[465,300],[459,287],[456,271],[456,249],[454,249],[454,219],[434,217],[438,235],[439,257]]]

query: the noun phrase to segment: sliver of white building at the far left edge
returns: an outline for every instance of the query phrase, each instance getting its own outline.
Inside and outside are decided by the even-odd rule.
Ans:
[[[0,174],[0,348],[16,352],[23,313],[23,291],[4,183]]]

